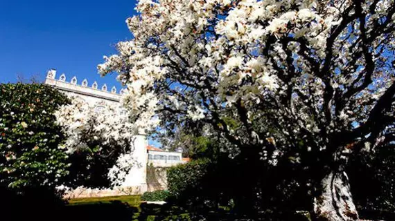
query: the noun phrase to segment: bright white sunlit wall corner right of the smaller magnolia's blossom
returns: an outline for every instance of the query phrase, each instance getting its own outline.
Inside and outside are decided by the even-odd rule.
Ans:
[[[126,175],[125,182],[122,184],[123,187],[136,186],[139,188],[140,193],[147,191],[147,154],[148,140],[146,135],[137,135],[134,137],[132,145],[132,156],[136,160],[136,166],[134,166],[128,175]]]

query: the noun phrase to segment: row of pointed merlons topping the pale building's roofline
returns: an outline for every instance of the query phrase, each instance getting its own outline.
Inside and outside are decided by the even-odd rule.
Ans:
[[[76,86],[82,86],[82,87],[85,87],[85,88],[90,87],[90,88],[95,89],[95,90],[102,90],[102,91],[105,91],[105,92],[107,92],[107,93],[117,94],[117,89],[116,89],[115,86],[113,86],[113,87],[111,88],[111,90],[107,91],[107,90],[108,90],[107,84],[104,84],[103,86],[99,87],[99,86],[98,86],[98,83],[97,83],[96,81],[94,81],[94,83],[91,84],[91,86],[89,86],[88,80],[87,80],[87,79],[84,79],[84,80],[81,82],[81,84],[78,84],[78,79],[77,79],[76,76],[72,77],[70,81],[67,81],[67,77],[66,77],[66,75],[63,73],[63,74],[60,75],[60,77],[58,77],[58,79],[57,79],[57,78],[56,78],[56,70],[55,70],[55,69],[50,69],[50,70],[48,71],[48,73],[46,74],[46,79],[51,79],[51,80],[53,80],[53,81],[60,81],[60,82],[64,82],[64,83],[68,83],[68,84],[72,84],[72,85],[76,85]],[[98,88],[100,88],[100,89],[98,89]],[[119,90],[119,93],[118,93],[118,94],[119,94],[119,95],[122,95],[123,93],[125,93],[125,89],[124,89],[124,88],[122,88],[121,90]]]

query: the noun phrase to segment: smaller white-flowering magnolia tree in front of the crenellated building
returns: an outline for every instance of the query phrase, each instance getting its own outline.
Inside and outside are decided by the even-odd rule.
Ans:
[[[82,158],[81,162],[75,162],[78,165],[72,165],[76,167],[76,179],[82,180],[80,184],[86,184],[86,180],[92,180],[88,185],[100,184],[98,180],[93,181],[89,177],[94,175],[99,178],[104,176],[105,181],[109,178],[111,184],[121,184],[136,163],[131,153],[134,150],[134,135],[138,133],[139,126],[130,122],[128,111],[121,106],[109,104],[105,104],[102,110],[95,110],[87,102],[74,97],[71,104],[62,106],[55,116],[67,136],[62,148],[67,148],[67,152],[76,161]],[[78,153],[87,155],[79,157]],[[94,164],[98,164],[98,168]],[[81,166],[86,168],[82,169]],[[87,174],[82,173],[85,169]]]

